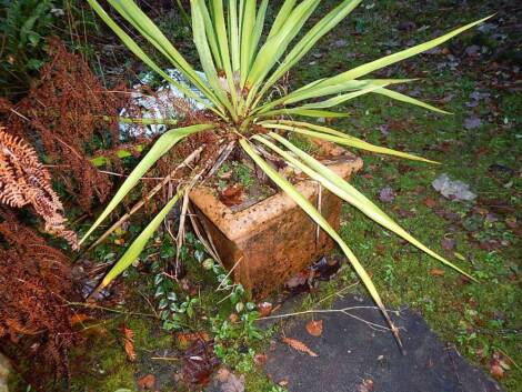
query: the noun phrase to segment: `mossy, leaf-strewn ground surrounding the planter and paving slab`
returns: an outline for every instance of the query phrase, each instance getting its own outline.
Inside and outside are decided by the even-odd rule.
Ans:
[[[333,3],[324,1],[321,7]],[[420,312],[443,342],[514,392],[522,390],[522,100],[516,82],[521,53],[515,49],[520,48],[520,6],[510,1],[431,0],[422,7],[414,1],[364,1],[303,59],[290,83],[298,87],[338,73],[494,12],[498,16],[479,29],[379,73],[381,78],[421,78],[403,91],[452,115],[369,96],[343,108],[352,115],[331,125],[442,162],[429,165],[363,154],[365,165],[353,184],[422,242],[471,271],[480,283],[441,267],[352,208],[343,210],[341,233],[371,271],[387,304]],[[179,18],[163,13],[158,19],[190,53],[184,28],[172,28]],[[126,67],[140,71],[133,63]],[[113,73],[118,72],[109,74]],[[476,198],[443,197],[432,182],[444,173],[469,184]],[[98,262],[114,261],[138,230],[131,225],[112,235],[109,244],[96,250]],[[211,383],[218,382],[222,391],[284,391],[284,385],[268,380],[262,368],[270,345],[280,341],[281,326],[275,323],[260,331],[253,321],[258,311],[270,305],[251,310],[245,294],[233,285],[217,291],[223,271],[208,261],[195,240],[189,241],[182,255],[189,265],[187,280],[171,287],[158,272],[175,253],[165,239],[167,233],[159,235],[142,258],[153,262],[131,269],[112,289],[116,294],[104,304],[110,311],[99,309],[90,320],[79,313],[76,323],[86,329],[89,351],[79,349],[71,355],[71,390],[180,391],[174,385],[183,380],[209,381],[208,368],[219,360],[224,368]],[[328,308],[339,291],[358,290],[355,282],[352,270],[343,265],[334,279],[299,296],[293,310]],[[275,308],[277,301],[272,302]],[[165,311],[179,314],[177,321],[159,321]],[[317,326],[313,332],[318,333]],[[194,362],[194,358],[203,361]],[[12,381],[13,391],[21,390],[17,383]]]

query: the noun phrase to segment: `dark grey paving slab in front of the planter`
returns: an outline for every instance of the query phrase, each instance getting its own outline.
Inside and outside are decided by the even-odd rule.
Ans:
[[[373,306],[368,299],[350,295],[334,308]],[[351,311],[383,324],[374,309]],[[305,330],[309,319],[293,320],[284,328],[288,338],[305,343],[319,354],[312,358],[279,342],[270,352],[265,370],[274,382],[288,382],[290,392],[498,392],[499,384],[481,369],[446,346],[420,314],[410,311],[393,316],[406,355],[399,351],[390,332],[341,313],[318,314],[323,320],[319,338]]]

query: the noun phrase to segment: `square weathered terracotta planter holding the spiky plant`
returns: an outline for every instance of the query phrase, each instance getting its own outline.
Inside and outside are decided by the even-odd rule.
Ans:
[[[343,149],[320,144],[330,155],[337,155],[333,161],[323,163],[345,180],[362,168],[362,160]],[[295,187],[318,205],[315,182],[303,180]],[[255,299],[279,289],[334,245],[322,230],[318,238],[314,222],[282,191],[238,212],[224,205],[210,188],[194,189],[190,199],[224,267],[230,270],[238,263],[234,280]],[[322,189],[321,204],[321,213],[338,230],[341,200]]]

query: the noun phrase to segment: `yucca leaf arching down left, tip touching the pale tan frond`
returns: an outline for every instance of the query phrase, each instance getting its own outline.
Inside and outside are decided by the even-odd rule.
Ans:
[[[88,230],[86,235],[80,241],[80,244],[83,243],[89,235],[100,225],[103,220],[109,217],[109,214],[118,207],[118,204],[123,200],[123,198],[130,192],[132,188],[135,187],[141,177],[167,152],[172,145],[178,143],[180,140],[187,138],[190,134],[201,132],[208,129],[213,128],[213,124],[199,124],[185,128],[172,129],[163,133],[152,145],[150,151],[143,157],[143,159],[138,163],[138,165],[132,170],[129,177],[126,179],[123,184],[120,187],[118,192],[114,194],[112,200],[106,207],[103,212],[98,217],[92,227]]]

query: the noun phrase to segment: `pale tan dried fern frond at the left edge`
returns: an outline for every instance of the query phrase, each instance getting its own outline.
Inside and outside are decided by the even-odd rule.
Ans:
[[[46,221],[46,231],[77,248],[77,237],[66,229],[67,219],[51,175],[38,160],[37,152],[20,138],[0,127],[0,202],[14,208],[31,204]]]

